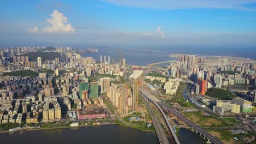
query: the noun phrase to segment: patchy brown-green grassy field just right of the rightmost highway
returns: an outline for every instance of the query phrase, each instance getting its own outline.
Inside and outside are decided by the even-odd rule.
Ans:
[[[185,117],[190,119],[190,121],[199,124],[203,127],[229,127],[230,124],[224,122],[222,119],[218,119],[213,116],[202,115],[201,111],[198,112],[185,112],[183,113]]]

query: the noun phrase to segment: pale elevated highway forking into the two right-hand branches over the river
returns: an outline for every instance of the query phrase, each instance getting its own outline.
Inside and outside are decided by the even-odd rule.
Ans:
[[[187,123],[191,128],[196,130],[197,133],[200,133],[201,135],[206,137],[208,139],[208,141],[211,141],[212,143],[216,143],[216,144],[222,144],[222,142],[220,140],[218,140],[216,137],[209,134],[206,130],[202,129],[201,127],[199,127],[195,123],[191,122],[188,118],[183,116],[181,113],[174,110],[173,107],[165,104],[164,102],[162,102],[161,100],[156,98],[154,95],[150,94],[146,88],[144,88],[144,87],[139,88],[139,93],[141,93],[144,97],[146,97],[151,103],[156,105],[161,112],[162,112],[162,109],[164,109],[166,111],[170,111],[171,113],[173,113],[173,115],[177,116],[183,122]],[[165,117],[165,113],[162,113],[162,114]],[[169,123],[168,119],[166,120],[166,122]],[[169,125],[170,125],[170,123],[168,124],[168,126]],[[172,129],[171,125],[170,125],[169,129],[172,132],[173,129]],[[175,133],[174,133],[173,137],[174,137],[174,140],[176,141],[176,143],[179,143],[178,138],[175,135]]]

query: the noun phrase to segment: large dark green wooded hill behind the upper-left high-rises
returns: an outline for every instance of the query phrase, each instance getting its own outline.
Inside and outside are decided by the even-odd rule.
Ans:
[[[60,53],[58,52],[43,52],[43,51],[37,51],[37,52],[29,52],[25,53],[22,56],[28,56],[30,57],[30,61],[37,61],[37,57],[42,57],[42,61],[53,61],[56,57],[61,57]]]

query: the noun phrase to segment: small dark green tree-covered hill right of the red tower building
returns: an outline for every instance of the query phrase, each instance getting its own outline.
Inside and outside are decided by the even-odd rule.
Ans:
[[[212,98],[221,99],[221,100],[231,100],[236,97],[234,93],[231,93],[230,91],[227,91],[225,89],[220,89],[220,88],[209,88],[207,89],[207,92],[205,95]]]

